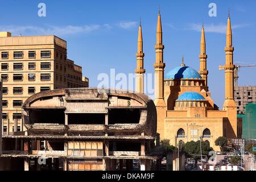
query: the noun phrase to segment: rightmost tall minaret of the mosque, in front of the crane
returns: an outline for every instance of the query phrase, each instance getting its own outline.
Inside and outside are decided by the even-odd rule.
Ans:
[[[234,107],[236,103],[234,102],[234,64],[233,64],[233,51],[232,47],[232,30],[230,23],[230,16],[228,17],[228,25],[226,28],[226,64],[225,69],[225,102],[224,110],[226,107]]]

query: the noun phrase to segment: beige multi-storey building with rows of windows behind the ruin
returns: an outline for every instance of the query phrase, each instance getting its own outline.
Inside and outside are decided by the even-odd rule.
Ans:
[[[54,35],[11,36],[0,32],[3,81],[2,133],[23,131],[22,105],[32,94],[88,87],[82,67],[67,59],[67,42]]]

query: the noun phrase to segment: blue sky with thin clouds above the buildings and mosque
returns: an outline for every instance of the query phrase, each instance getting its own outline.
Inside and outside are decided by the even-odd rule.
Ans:
[[[46,3],[46,17],[38,16],[38,4]],[[210,17],[209,3],[216,3],[217,16]],[[225,31],[230,8],[234,60],[256,64],[256,1],[3,1],[0,31],[14,36],[55,34],[68,42],[68,58],[82,66],[90,86],[97,86],[99,73],[133,73],[136,66],[138,22],[142,19],[144,68],[154,73],[155,31],[160,5],[165,70],[181,63],[198,70],[200,28],[205,24],[208,82],[212,98],[224,101]],[[256,67],[241,68],[239,85],[256,85]]]

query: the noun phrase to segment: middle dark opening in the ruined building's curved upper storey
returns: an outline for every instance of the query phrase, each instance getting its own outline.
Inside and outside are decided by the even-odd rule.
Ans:
[[[68,114],[69,125],[105,125],[105,114],[78,113]]]

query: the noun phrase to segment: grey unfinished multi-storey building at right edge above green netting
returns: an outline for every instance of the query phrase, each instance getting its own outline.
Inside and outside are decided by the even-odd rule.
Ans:
[[[245,113],[245,105],[256,102],[256,86],[235,86],[234,99],[237,104],[237,113]]]

